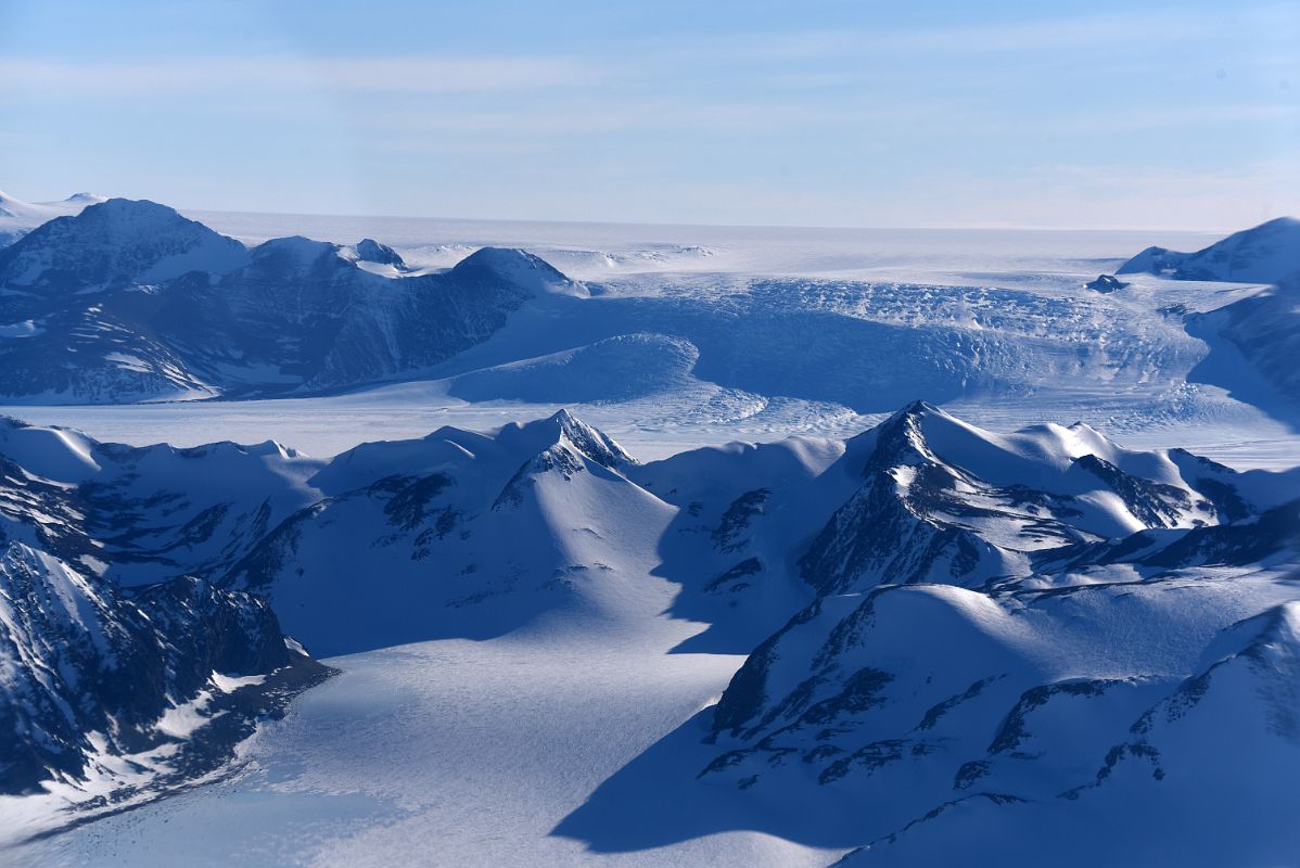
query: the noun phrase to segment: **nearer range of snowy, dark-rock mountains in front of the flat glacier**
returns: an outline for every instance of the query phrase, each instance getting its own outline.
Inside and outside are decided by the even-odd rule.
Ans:
[[[1261,859],[1296,843],[1275,816],[1300,769],[1294,472],[920,402],[842,443],[645,464],[568,412],[329,461],[10,421],[0,455],[12,793],[152,798],[328,676],[306,650],[633,630],[653,574],[681,587],[667,615],[706,625],[680,652],[748,655],[671,737],[712,758],[675,786],[788,806],[774,833],[875,864],[988,823],[1023,856],[1084,815],[1173,836],[1176,808],[1253,812],[1216,834]],[[603,846],[608,811],[634,811],[606,804],[620,786],[556,832]]]

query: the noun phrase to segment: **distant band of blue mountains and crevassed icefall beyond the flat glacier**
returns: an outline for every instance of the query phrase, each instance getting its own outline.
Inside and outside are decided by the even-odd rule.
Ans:
[[[1279,416],[1300,402],[1288,364],[1300,223],[1286,218],[1196,253],[1143,251],[1118,273],[1160,281],[1112,278],[1104,294],[789,279],[644,294],[572,281],[517,249],[419,268],[374,239],[248,247],[155,203],[86,201],[0,247],[9,403],[269,398],[411,379],[446,379],[472,402],[623,402],[702,386],[863,413],[918,392],[942,402],[1078,383],[1174,404],[1161,412],[1180,412],[1193,382]],[[1193,279],[1271,288],[1148,299]]]

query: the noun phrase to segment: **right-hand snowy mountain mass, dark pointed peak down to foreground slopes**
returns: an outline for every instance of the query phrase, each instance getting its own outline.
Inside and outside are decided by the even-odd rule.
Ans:
[[[1013,864],[1295,851],[1278,806],[1300,769],[1296,473],[1130,451],[1082,425],[996,435],[918,403],[796,487],[845,479],[857,490],[776,560],[815,599],[650,767],[701,743],[711,759],[670,784],[629,767],[559,832],[614,847],[636,823],[615,794],[671,785],[690,819],[655,812],[641,846],[741,816],[863,847],[846,864],[945,864],[983,823]],[[783,500],[807,515],[800,495],[751,492],[719,537],[780,534]],[[745,554],[719,582],[740,594],[772,578]],[[1058,851],[1097,816],[1114,836]],[[1178,816],[1251,821],[1188,834]]]

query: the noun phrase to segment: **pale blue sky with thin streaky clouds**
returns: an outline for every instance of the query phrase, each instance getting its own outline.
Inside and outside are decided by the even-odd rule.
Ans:
[[[1300,216],[1300,4],[0,0],[0,190],[1232,230]]]

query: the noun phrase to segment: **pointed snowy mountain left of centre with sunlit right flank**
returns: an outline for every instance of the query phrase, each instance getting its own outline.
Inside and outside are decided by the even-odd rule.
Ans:
[[[618,620],[673,513],[630,466],[567,412],[359,446],[224,583],[265,595],[320,654],[486,638],[549,612]]]

